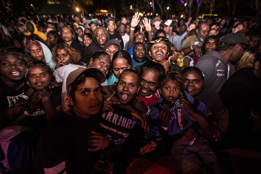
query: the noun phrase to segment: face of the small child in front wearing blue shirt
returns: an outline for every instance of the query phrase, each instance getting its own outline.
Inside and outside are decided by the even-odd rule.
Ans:
[[[165,84],[163,84],[159,91],[165,100],[173,102],[179,97],[180,87],[171,81],[167,81]]]

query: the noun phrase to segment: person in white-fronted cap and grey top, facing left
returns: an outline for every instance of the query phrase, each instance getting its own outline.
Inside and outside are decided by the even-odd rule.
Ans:
[[[177,50],[180,50],[181,37],[177,33],[173,32],[177,28],[177,22],[169,19],[163,24],[163,26],[163,30],[166,32],[166,38],[171,41]]]

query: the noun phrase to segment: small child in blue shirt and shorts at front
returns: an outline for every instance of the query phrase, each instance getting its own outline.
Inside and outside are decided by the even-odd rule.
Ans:
[[[184,78],[180,72],[167,72],[160,82],[159,91],[162,98],[157,100],[150,112],[151,119],[159,120],[164,131],[173,143],[171,153],[177,159],[182,172],[206,172],[204,162],[210,169],[218,171],[218,161],[210,149],[208,141],[203,135],[197,133],[197,124],[211,136],[206,119],[213,118],[210,110],[199,100],[185,92]],[[193,104],[191,104],[191,103]],[[197,110],[201,110],[202,115]],[[156,135],[157,127],[151,127],[150,131]]]

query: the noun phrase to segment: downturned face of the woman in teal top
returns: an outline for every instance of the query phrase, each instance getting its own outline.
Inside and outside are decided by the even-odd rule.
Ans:
[[[113,62],[113,74],[115,75],[115,77],[117,79],[119,79],[121,73],[126,70],[126,69],[130,69],[131,65],[128,64],[127,60],[124,58],[117,58],[114,62]]]

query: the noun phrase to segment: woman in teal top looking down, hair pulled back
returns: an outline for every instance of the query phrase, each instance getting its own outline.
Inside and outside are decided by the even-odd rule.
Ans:
[[[113,74],[108,78],[108,85],[118,82],[122,71],[132,68],[132,60],[127,51],[117,51],[112,57]]]

